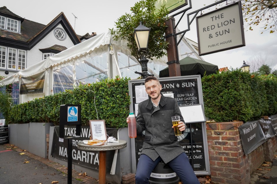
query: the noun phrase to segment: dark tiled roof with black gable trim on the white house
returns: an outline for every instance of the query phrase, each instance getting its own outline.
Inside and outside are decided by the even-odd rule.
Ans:
[[[0,8],[0,13],[13,16],[14,19],[21,18],[20,16],[8,10],[5,6]],[[59,24],[63,26],[74,45],[81,43],[81,40],[76,35],[67,18],[63,12],[61,12],[47,25],[23,19],[21,23],[21,34],[0,29],[0,45],[7,45],[15,48],[30,50]]]

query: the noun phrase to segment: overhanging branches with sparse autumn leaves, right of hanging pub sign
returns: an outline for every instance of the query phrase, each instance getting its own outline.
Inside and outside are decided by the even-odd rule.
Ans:
[[[233,3],[234,1],[227,2]],[[241,0],[241,2],[244,21],[247,22],[249,30],[253,30],[252,26],[263,24],[264,31],[275,32],[277,24],[276,0]]]

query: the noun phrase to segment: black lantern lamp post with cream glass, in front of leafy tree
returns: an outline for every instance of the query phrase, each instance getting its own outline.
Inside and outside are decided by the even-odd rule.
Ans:
[[[146,55],[149,52],[148,46],[148,40],[149,40],[149,33],[150,28],[145,27],[142,22],[139,22],[139,26],[134,29],[134,38],[136,41],[136,45],[138,46],[138,55],[141,57],[139,60],[141,64],[141,72],[135,71],[136,74],[140,74],[143,79],[146,79],[148,76],[150,76],[149,73],[147,73],[147,62],[149,61],[146,59]]]

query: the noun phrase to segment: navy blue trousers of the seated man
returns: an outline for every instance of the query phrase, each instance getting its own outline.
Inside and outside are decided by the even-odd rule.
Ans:
[[[136,184],[149,184],[150,174],[161,160],[162,159],[158,157],[153,161],[147,155],[142,154],[136,169]],[[186,153],[181,153],[167,164],[179,176],[184,184],[199,184]]]

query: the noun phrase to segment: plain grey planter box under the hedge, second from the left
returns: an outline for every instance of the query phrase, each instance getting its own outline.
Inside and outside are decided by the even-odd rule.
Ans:
[[[53,123],[29,123],[29,149],[30,153],[47,158],[46,134],[49,134]]]

